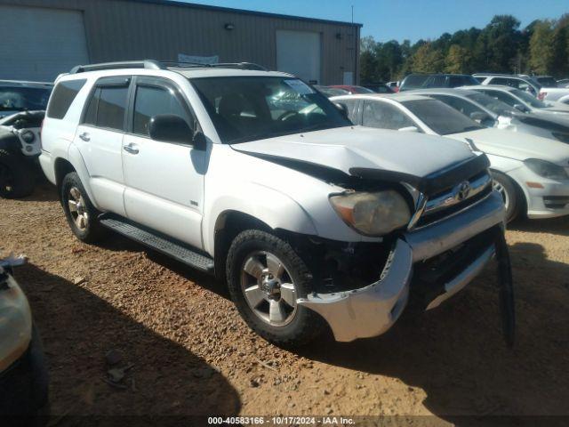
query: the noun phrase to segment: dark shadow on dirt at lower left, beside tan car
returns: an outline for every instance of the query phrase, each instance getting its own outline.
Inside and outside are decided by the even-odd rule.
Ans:
[[[228,380],[179,343],[33,264],[15,275],[44,342],[58,425],[76,423],[77,415],[151,415],[156,423],[168,415],[191,424],[184,417],[239,413],[241,401]],[[122,355],[116,367],[132,364],[119,385],[108,383],[108,350]]]

